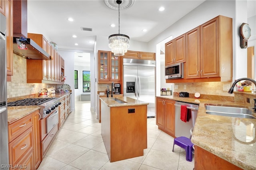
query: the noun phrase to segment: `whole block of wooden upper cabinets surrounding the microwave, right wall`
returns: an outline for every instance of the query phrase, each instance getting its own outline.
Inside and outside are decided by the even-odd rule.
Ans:
[[[166,83],[231,82],[233,77],[232,34],[232,18],[225,16],[217,16],[187,32],[184,37],[186,39],[184,79],[168,79]],[[166,43],[166,46],[174,49],[175,43],[177,43],[176,39],[171,41],[173,44]],[[182,46],[179,48],[182,49]],[[171,50],[167,49],[166,55],[171,53],[175,56],[175,51],[174,49],[173,54]],[[180,51],[180,54],[183,52]],[[172,62],[173,60],[169,58],[167,61]]]

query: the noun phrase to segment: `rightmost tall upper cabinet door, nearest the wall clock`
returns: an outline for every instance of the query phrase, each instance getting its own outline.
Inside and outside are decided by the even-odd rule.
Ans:
[[[202,24],[201,30],[201,77],[219,77],[219,19]]]

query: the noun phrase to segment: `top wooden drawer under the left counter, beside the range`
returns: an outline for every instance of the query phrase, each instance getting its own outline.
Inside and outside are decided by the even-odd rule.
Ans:
[[[32,127],[32,115],[28,115],[10,125],[8,125],[9,142],[14,140],[17,136],[22,134],[29,127]]]

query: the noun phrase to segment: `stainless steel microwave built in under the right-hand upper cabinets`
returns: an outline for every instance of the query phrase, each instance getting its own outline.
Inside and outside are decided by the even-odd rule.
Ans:
[[[165,79],[181,79],[184,77],[184,63],[165,66]]]

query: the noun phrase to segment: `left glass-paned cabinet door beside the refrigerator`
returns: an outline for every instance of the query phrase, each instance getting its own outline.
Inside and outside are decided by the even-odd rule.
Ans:
[[[99,81],[108,81],[108,51],[98,51]]]

